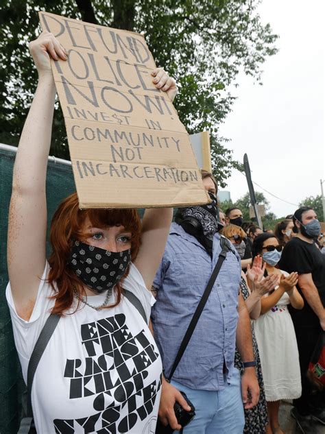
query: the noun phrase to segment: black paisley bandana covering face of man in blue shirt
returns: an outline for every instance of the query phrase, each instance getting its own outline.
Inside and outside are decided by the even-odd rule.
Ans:
[[[182,226],[185,232],[195,237],[212,256],[213,236],[221,225],[218,222],[217,197],[212,193],[208,194],[213,202],[206,205],[180,208],[175,221]]]

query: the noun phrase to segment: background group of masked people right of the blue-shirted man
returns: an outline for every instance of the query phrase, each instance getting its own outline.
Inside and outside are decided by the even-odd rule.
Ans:
[[[293,400],[291,415],[298,429],[315,433],[314,422],[325,425],[324,390],[313,386],[307,374],[317,340],[325,330],[324,234],[317,215],[312,208],[303,206],[276,224],[274,231],[244,222],[238,208],[229,208],[224,215],[228,219],[221,233],[237,241],[247,277],[256,269],[256,258],[263,263],[263,271],[258,267],[263,276],[278,276],[277,285],[261,295],[258,316],[251,315],[261,359],[260,391],[265,392],[268,420],[265,431],[262,426],[254,431],[245,415],[244,432],[282,433],[278,420],[280,400],[289,399]],[[232,224],[237,226],[235,238],[229,237],[234,232]]]

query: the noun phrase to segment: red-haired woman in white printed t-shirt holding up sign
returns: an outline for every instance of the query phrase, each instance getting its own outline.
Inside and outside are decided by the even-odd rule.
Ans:
[[[74,193],[53,216],[47,262],[45,176],[56,95],[49,58],[67,60],[67,53],[48,33],[29,47],[39,80],[14,165],[7,298],[25,381],[40,330],[51,312],[60,315],[34,377],[36,431],[149,432],[162,366],[123,289],[149,318],[154,300],[146,288],[164,252],[171,209],[146,210],[141,225],[136,210],[80,210]],[[152,75],[157,88],[176,94],[165,71]]]

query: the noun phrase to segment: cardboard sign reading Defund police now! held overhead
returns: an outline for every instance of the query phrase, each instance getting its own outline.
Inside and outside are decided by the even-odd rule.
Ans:
[[[39,14],[69,52],[51,65],[80,208],[208,202],[189,135],[152,83],[156,64],[143,36]]]

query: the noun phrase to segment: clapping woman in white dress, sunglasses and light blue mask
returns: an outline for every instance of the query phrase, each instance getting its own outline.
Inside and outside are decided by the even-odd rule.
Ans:
[[[265,276],[278,278],[274,291],[261,298],[261,316],[254,321],[260,352],[269,426],[267,433],[283,434],[278,422],[280,400],[301,395],[299,355],[296,335],[288,305],[302,309],[304,301],[296,289],[298,274],[288,274],[276,267],[282,246],[273,234],[261,234],[253,243],[253,258],[262,257]]]

